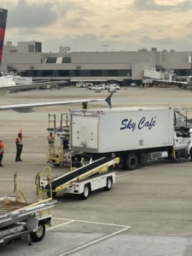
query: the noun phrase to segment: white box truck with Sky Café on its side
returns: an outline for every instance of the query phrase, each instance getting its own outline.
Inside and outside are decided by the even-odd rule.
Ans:
[[[123,169],[159,158],[189,158],[191,138],[174,128],[173,108],[70,110],[70,149],[93,158],[120,157]]]

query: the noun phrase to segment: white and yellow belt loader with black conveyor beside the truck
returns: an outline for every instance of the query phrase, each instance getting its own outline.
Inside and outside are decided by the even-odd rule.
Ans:
[[[80,195],[82,199],[87,199],[90,191],[105,188],[110,190],[115,183],[115,172],[108,172],[110,166],[119,164],[119,158],[103,157],[87,166],[82,166],[75,171],[68,172],[62,176],[53,177],[49,180],[40,180],[40,189],[55,197],[58,192],[64,191],[67,194]],[[42,175],[43,176],[43,175]]]

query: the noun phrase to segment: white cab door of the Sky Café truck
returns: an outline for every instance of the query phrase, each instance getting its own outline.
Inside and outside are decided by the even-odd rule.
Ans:
[[[188,135],[180,129],[175,129],[174,143],[176,150],[182,150],[188,148],[189,137]]]

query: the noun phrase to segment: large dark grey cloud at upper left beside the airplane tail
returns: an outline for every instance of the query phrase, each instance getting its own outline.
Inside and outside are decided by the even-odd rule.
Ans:
[[[49,26],[58,19],[52,3],[30,3],[20,0],[9,9],[8,27],[42,27]]]

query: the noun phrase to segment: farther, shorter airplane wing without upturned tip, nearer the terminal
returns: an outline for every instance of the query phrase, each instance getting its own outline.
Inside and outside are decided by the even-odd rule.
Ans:
[[[45,87],[47,85],[57,85],[57,84],[67,84],[67,81],[49,81],[49,82],[41,82],[41,83],[34,83],[34,84],[15,84],[9,86],[0,87],[0,91],[4,90],[27,90],[27,89],[35,89],[39,87]]]

